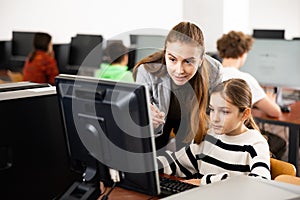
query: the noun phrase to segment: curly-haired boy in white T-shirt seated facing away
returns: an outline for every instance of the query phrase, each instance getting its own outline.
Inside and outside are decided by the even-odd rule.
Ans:
[[[252,36],[240,31],[230,31],[217,40],[218,53],[223,59],[223,81],[230,78],[244,79],[251,88],[254,107],[271,117],[279,117],[281,110],[275,101],[276,96],[273,93],[267,95],[251,74],[240,70],[247,59],[253,42]]]

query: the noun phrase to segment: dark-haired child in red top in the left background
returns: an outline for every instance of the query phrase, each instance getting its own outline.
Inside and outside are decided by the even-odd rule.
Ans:
[[[36,33],[33,38],[33,47],[33,52],[25,61],[23,80],[55,85],[54,78],[59,72],[54,58],[52,37],[48,33]]]

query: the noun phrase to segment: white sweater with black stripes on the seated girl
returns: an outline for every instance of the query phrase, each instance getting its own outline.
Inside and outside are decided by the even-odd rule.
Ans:
[[[270,179],[267,140],[257,131],[236,136],[211,130],[201,144],[190,144],[158,157],[160,172],[185,178],[201,178],[201,185],[240,174]]]

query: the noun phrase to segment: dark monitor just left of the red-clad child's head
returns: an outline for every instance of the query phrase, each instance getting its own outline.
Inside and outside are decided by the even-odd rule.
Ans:
[[[35,32],[13,31],[12,55],[28,56],[33,50],[33,37]]]

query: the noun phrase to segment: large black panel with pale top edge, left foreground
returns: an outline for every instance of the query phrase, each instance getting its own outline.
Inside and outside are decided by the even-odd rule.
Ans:
[[[55,199],[75,181],[55,87],[0,93],[0,199]]]

